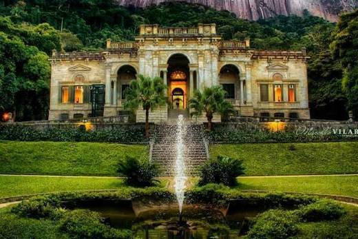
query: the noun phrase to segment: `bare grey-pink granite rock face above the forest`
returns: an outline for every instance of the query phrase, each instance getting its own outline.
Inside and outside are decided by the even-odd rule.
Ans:
[[[116,0],[121,6],[147,7],[175,0]],[[276,15],[311,14],[328,21],[337,21],[338,14],[358,7],[357,0],[181,0],[217,10],[228,10],[242,19],[257,20]]]

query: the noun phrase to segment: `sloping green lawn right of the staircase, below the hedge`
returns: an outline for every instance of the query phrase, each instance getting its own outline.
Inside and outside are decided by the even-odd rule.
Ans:
[[[246,176],[358,173],[358,142],[211,145],[210,155],[244,160]]]

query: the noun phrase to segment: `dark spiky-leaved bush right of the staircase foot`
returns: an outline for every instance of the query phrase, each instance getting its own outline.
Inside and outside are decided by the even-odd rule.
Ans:
[[[218,156],[217,159],[209,160],[200,168],[199,185],[222,183],[233,186],[237,184],[236,178],[242,174],[244,174],[242,160]]]

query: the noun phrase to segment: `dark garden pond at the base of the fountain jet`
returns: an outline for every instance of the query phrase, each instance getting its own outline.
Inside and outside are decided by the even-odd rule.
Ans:
[[[131,202],[85,202],[76,209],[97,211],[105,222],[118,229],[131,229],[143,239],[231,239],[244,235],[249,222],[264,209],[222,211],[199,205],[185,205],[179,220],[178,205],[136,205]]]

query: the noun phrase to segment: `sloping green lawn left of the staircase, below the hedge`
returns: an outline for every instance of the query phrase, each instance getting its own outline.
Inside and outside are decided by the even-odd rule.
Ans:
[[[0,174],[116,176],[120,158],[147,158],[146,145],[0,141]]]

